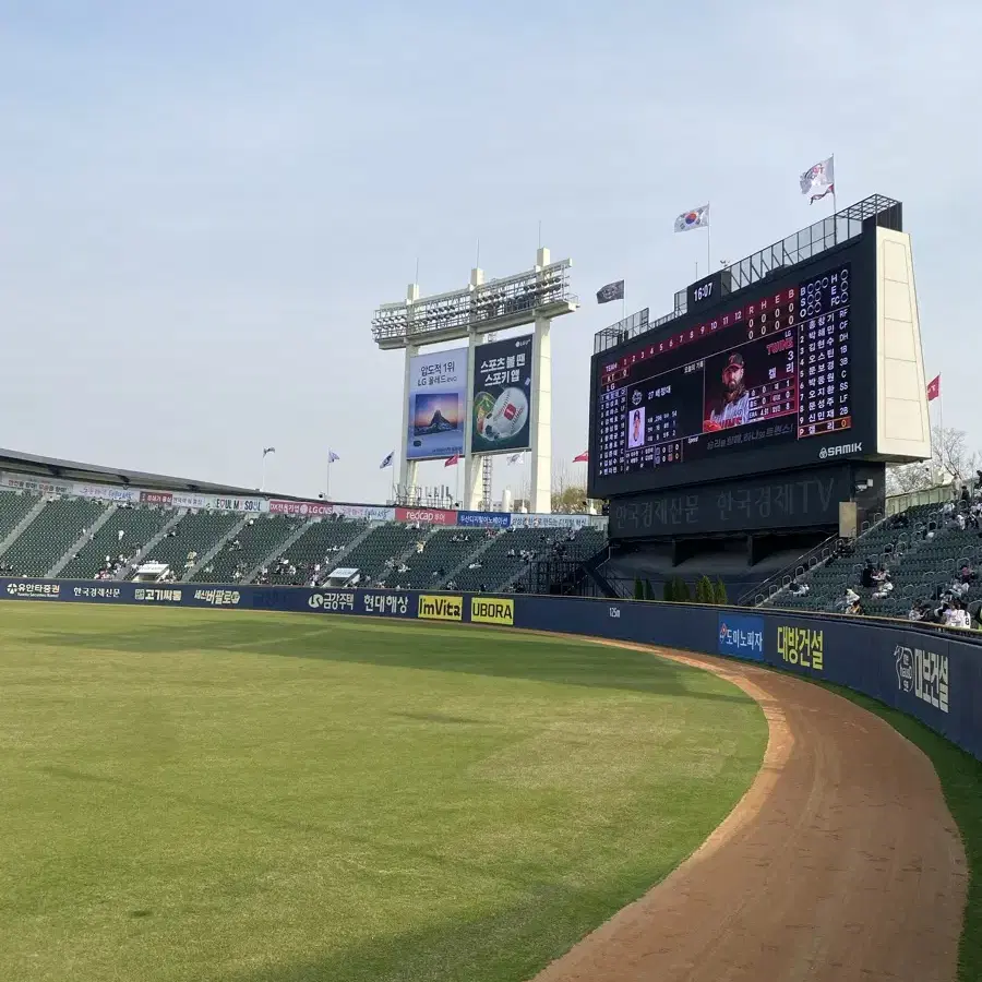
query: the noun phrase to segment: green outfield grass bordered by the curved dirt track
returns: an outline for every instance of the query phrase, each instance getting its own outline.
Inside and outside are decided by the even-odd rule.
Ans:
[[[459,625],[0,604],[0,979],[522,982],[752,781],[761,709]]]

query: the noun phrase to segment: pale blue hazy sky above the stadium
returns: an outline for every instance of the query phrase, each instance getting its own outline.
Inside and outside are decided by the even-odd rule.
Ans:
[[[930,374],[982,447],[973,286],[982,8],[899,2],[352,4],[0,0],[0,446],[384,500],[402,359],[379,302],[527,268],[553,334],[554,455],[586,447],[592,335],[705,263],[840,206],[905,203]],[[571,474],[575,474],[568,464]],[[496,483],[520,481],[496,465]],[[443,481],[440,465],[422,474]]]

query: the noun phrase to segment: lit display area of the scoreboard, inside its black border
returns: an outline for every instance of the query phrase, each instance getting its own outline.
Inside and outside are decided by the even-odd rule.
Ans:
[[[849,430],[850,283],[841,263],[601,358],[597,478]]]

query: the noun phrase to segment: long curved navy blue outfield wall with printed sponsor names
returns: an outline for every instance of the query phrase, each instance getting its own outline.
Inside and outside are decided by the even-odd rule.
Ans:
[[[106,580],[0,578],[0,599],[480,623],[682,648],[846,685],[915,717],[982,759],[982,644],[902,621],[524,594]]]

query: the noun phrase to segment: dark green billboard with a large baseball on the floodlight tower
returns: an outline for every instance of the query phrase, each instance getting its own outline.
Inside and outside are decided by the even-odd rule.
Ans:
[[[531,429],[532,336],[475,349],[472,454],[528,450]]]

